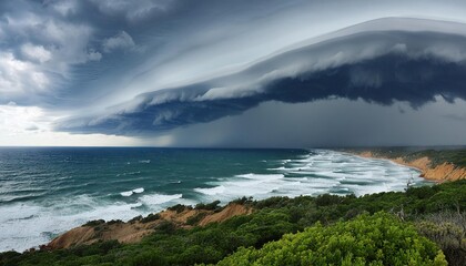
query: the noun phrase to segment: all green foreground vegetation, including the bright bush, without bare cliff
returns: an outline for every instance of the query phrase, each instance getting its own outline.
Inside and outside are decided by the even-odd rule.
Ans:
[[[275,262],[263,259],[281,259],[278,254],[283,259],[295,259],[295,250],[322,250],[305,259],[336,265],[444,265],[443,254],[449,265],[466,262],[466,181],[362,197],[321,195],[235,202],[254,212],[192,229],[164,222],[138,244],[103,242],[62,250],[2,253],[0,265],[230,265],[235,257],[261,265]],[[172,209],[182,212],[185,206]],[[303,243],[310,245],[303,247]]]

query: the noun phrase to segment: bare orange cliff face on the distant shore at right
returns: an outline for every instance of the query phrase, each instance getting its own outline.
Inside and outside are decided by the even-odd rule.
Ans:
[[[362,152],[357,155],[362,157],[372,157],[372,158],[385,158],[391,160],[395,163],[403,164],[409,167],[418,168],[422,174],[421,176],[435,181],[435,182],[445,182],[445,181],[457,181],[466,178],[466,168],[458,167],[452,163],[443,163],[436,166],[433,166],[428,157],[419,157],[414,161],[407,161],[404,157],[389,158],[384,156],[378,156],[372,152]]]

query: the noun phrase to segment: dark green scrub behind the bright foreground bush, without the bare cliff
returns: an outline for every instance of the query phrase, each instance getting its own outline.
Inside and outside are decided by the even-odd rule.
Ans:
[[[440,226],[440,229],[449,228],[448,223],[452,221],[442,218],[447,216],[445,214],[455,217],[465,215],[466,181],[432,187],[409,187],[404,193],[388,192],[362,197],[327,194],[317,197],[272,197],[257,202],[242,198],[236,202],[252,206],[255,212],[251,215],[230,218],[223,223],[210,224],[204,227],[196,226],[193,229],[181,229],[169,222],[162,223],[156,228],[156,233],[146,236],[138,244],[123,245],[116,242],[104,242],[53,252],[2,253],[0,254],[0,265],[216,264],[236,252],[239,247],[259,249],[269,242],[278,241],[284,234],[302,232],[310,226],[311,229],[305,232],[315,231],[313,228],[323,231],[336,222],[342,223],[328,227],[330,232],[344,228],[346,221],[352,221],[364,214],[354,222],[361,223],[369,217],[366,214],[381,211],[395,215],[396,219],[401,221],[396,223],[406,223],[407,227],[409,227],[408,223],[414,223],[421,234],[430,237],[439,247],[445,248],[446,259],[450,265],[462,265],[463,262],[466,262],[465,249],[462,246],[462,243],[466,243],[464,227],[455,227],[459,229],[455,234],[455,237],[459,237],[459,245],[456,245],[452,244],[449,238],[444,237],[444,234],[437,234],[438,228],[426,224],[434,223],[436,226]],[[215,208],[216,204],[207,207]],[[434,221],[433,216],[438,216],[438,221]],[[150,219],[152,218],[158,217],[150,217]],[[395,221],[393,217],[386,219]],[[321,225],[312,227],[316,222]],[[423,224],[423,222],[425,223]],[[412,227],[408,233],[412,233]],[[413,237],[418,239],[417,236],[413,235]],[[397,242],[394,244],[398,245]],[[399,243],[399,245],[403,244]],[[341,249],[343,254],[344,247]],[[240,253],[241,250],[253,249],[240,249]],[[417,252],[424,253],[421,249]],[[389,254],[383,255],[389,256]]]

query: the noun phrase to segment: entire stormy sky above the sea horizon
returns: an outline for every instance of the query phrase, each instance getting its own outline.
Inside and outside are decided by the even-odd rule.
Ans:
[[[466,2],[0,1],[0,145],[466,144]]]

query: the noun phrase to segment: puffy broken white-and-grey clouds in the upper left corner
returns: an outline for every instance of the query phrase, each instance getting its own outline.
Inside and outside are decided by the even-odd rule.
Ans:
[[[0,4],[0,103],[36,105],[54,102],[70,81],[71,68],[101,58],[92,49],[93,28],[54,17],[38,2]],[[50,99],[48,99],[50,98]]]

